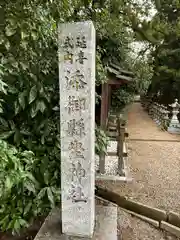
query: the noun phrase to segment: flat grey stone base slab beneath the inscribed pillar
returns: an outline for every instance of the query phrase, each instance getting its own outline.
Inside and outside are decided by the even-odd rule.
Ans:
[[[67,236],[61,231],[61,210],[54,209],[46,218],[34,240],[117,240],[117,207],[96,205],[92,238]]]

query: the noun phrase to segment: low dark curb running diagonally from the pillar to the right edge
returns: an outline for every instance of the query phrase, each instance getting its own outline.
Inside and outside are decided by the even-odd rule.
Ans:
[[[156,228],[166,230],[176,237],[180,238],[180,215],[169,211],[146,206],[142,203],[138,203],[127,199],[127,197],[120,196],[117,193],[111,192],[102,187],[96,186],[96,195],[117,204],[124,211],[129,214],[148,222]]]

